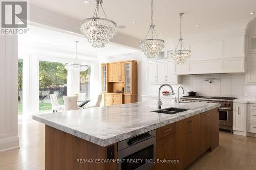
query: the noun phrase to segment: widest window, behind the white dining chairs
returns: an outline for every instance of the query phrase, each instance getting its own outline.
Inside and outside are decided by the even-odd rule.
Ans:
[[[63,104],[67,95],[67,70],[57,62],[39,61],[39,112],[52,111],[50,94],[56,94],[58,103]]]

